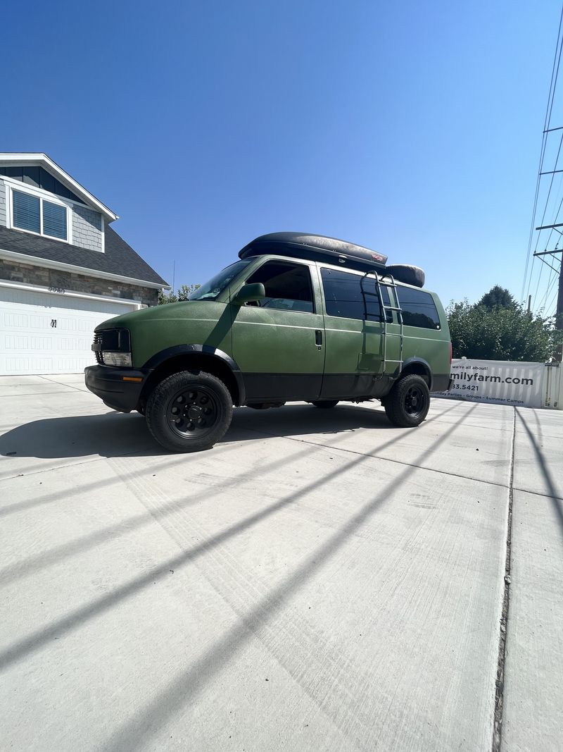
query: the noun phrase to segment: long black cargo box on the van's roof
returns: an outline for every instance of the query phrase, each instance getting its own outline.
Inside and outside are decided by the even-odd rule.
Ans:
[[[260,235],[239,250],[240,259],[251,256],[292,256],[309,261],[324,261],[360,271],[385,270],[387,256],[361,245],[348,243],[325,235],[310,235],[307,232],[270,232]]]

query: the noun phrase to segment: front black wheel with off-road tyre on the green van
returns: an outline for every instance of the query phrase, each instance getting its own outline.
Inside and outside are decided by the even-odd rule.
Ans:
[[[227,432],[233,398],[212,374],[180,371],[160,384],[146,402],[146,423],[165,449],[198,452],[210,449]]]

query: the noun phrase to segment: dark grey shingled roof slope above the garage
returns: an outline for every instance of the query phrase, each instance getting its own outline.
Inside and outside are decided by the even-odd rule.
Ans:
[[[94,277],[127,278],[131,283],[146,283],[148,287],[168,287],[167,282],[115,230],[106,225],[105,234],[105,252],[101,253],[0,226],[0,256],[17,254],[22,263],[41,265],[44,261],[45,266],[75,274],[90,271]]]

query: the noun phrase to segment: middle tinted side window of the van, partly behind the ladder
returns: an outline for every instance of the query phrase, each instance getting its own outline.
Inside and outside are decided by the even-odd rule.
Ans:
[[[321,269],[321,279],[329,316],[381,321],[378,290],[372,275],[360,276],[336,269]],[[385,290],[389,300],[387,288]]]

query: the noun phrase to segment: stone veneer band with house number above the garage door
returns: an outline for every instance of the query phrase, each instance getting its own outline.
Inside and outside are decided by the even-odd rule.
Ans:
[[[87,274],[74,274],[74,272],[21,264],[5,259],[0,259],[0,279],[34,284],[40,287],[62,287],[64,290],[74,293],[139,300],[144,305],[157,305],[158,303],[158,290],[153,290],[150,287],[103,280],[97,277],[89,277]]]

